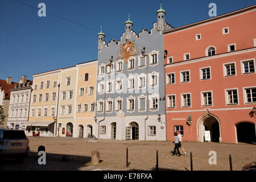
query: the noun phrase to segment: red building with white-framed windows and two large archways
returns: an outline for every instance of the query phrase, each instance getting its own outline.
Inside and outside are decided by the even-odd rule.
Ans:
[[[255,20],[254,5],[164,32],[167,140],[255,142]]]

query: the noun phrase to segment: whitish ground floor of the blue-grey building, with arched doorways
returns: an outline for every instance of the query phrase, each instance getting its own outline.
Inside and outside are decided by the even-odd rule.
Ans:
[[[126,116],[123,113],[105,119],[100,117],[95,122],[94,131],[101,139],[166,140],[165,115],[149,115],[146,121],[145,118],[146,115]]]

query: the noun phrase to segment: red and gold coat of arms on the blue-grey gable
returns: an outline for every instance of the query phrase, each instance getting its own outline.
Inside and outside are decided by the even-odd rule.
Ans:
[[[118,59],[125,59],[127,63],[129,57],[135,55],[138,55],[138,52],[134,49],[134,40],[132,42],[126,41],[126,43],[120,47]]]

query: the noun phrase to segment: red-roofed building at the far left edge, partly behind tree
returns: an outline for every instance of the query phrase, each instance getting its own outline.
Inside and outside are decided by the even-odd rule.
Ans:
[[[11,77],[7,77],[6,80],[0,80],[0,105],[3,107],[3,114],[6,116],[5,121],[0,125],[3,128],[7,127],[10,89],[13,89],[15,84],[15,82],[11,82]]]

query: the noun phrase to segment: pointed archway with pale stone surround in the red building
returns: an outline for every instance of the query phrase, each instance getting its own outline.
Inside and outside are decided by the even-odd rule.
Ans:
[[[210,131],[211,142],[222,142],[221,122],[216,115],[205,111],[197,120],[197,140],[205,142],[205,131]]]

